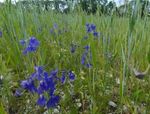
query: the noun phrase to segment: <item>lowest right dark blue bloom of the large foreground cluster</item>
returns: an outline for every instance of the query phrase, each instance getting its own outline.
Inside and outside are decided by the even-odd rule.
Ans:
[[[59,96],[51,96],[47,102],[47,108],[54,108],[58,105],[60,100]]]

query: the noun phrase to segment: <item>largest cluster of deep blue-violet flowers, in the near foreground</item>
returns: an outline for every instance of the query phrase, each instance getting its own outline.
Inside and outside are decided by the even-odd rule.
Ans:
[[[46,72],[42,66],[36,66],[35,72],[27,80],[21,82],[21,87],[31,93],[38,94],[37,104],[41,107],[53,108],[59,103],[60,96],[55,95],[57,82],[65,83],[66,76],[70,81],[75,80],[72,71],[63,71],[62,76],[58,77],[58,69]],[[16,91],[16,96],[21,95]]]

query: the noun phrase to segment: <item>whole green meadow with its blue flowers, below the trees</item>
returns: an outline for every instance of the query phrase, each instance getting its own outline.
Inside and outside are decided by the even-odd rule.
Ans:
[[[149,19],[1,7],[0,114],[149,114]]]

